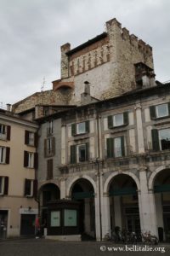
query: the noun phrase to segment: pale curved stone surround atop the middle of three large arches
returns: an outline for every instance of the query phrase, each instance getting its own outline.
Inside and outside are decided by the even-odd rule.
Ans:
[[[136,177],[136,175],[134,175],[132,172],[118,172],[117,171],[117,172],[111,173],[111,175],[109,177],[107,177],[107,179],[105,180],[105,183],[104,183],[104,193],[105,194],[108,193],[108,191],[109,191],[109,184],[111,183],[112,178],[116,177],[117,175],[120,175],[120,174],[126,174],[126,175],[132,177],[137,185],[138,190],[140,190],[139,178]]]

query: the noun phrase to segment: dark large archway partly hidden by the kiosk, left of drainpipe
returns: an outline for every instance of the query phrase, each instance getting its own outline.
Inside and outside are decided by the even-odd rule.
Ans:
[[[78,179],[72,186],[71,199],[80,202],[80,232],[82,240],[95,238],[94,187],[85,178]]]

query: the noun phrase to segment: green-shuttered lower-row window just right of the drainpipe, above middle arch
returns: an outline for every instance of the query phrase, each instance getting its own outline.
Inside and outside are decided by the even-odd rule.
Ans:
[[[125,155],[124,137],[110,137],[106,140],[107,157],[122,157]]]

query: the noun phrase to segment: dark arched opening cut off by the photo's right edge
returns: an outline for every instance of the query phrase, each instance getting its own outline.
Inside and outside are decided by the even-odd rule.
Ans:
[[[170,170],[159,172],[154,180],[156,218],[160,241],[170,241]]]

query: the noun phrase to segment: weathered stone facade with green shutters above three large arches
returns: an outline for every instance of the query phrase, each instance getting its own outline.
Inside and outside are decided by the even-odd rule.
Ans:
[[[41,120],[39,147],[47,150],[52,120],[57,143],[45,159],[41,149],[40,195],[53,184],[58,198],[82,201],[82,233],[99,240],[100,224],[103,239],[115,226],[156,235],[161,227],[169,239],[169,92],[134,90]]]

